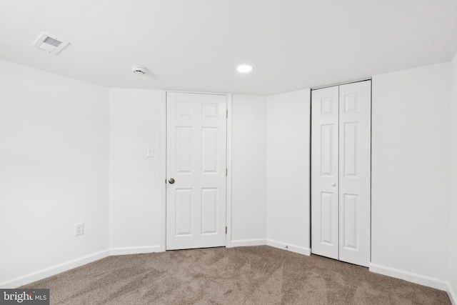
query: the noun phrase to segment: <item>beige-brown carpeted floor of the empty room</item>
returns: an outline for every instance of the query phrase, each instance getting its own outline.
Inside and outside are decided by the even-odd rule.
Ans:
[[[451,304],[446,292],[270,246],[110,256],[22,288],[51,304]]]

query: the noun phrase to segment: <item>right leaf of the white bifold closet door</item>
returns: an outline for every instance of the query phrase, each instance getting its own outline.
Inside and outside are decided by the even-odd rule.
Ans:
[[[371,81],[339,86],[339,259],[368,266]]]

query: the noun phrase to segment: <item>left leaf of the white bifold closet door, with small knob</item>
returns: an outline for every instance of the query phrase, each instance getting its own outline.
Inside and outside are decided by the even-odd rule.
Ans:
[[[338,259],[338,86],[311,96],[311,249]]]

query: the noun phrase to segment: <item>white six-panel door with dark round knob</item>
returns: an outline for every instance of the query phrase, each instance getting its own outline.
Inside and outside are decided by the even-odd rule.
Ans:
[[[167,93],[166,249],[225,246],[225,95]]]

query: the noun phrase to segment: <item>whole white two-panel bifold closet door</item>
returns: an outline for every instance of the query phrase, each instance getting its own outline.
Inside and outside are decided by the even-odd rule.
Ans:
[[[370,261],[371,81],[312,92],[311,251]]]

